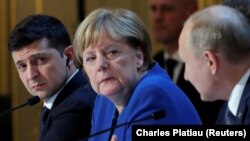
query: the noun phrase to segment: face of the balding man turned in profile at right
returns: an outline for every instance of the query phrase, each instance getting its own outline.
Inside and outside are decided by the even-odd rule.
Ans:
[[[203,101],[213,101],[214,83],[209,61],[204,54],[194,54],[189,42],[190,32],[191,26],[184,26],[179,39],[179,56],[185,64],[184,78],[194,85]]]

